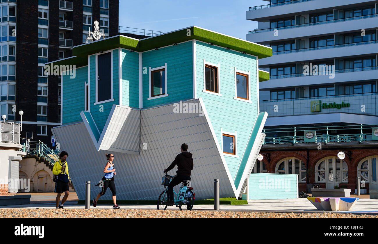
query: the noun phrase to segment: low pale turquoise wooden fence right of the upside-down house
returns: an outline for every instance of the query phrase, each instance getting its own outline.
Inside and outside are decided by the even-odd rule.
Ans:
[[[249,200],[297,198],[297,185],[296,174],[252,173],[248,184]]]

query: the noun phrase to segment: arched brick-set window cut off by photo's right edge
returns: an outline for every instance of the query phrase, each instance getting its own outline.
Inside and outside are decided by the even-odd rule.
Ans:
[[[366,183],[377,185],[377,160],[378,156],[367,157],[361,160],[357,166],[357,177],[360,180],[364,180]],[[377,189],[376,187],[369,187],[371,189]]]

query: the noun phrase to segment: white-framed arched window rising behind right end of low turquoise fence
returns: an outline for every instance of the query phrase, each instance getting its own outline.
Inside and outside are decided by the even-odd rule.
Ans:
[[[306,164],[296,158],[285,158],[277,163],[276,174],[297,174],[298,182],[306,183]]]

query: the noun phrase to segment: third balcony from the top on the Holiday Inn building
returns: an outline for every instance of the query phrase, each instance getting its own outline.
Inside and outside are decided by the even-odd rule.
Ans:
[[[353,48],[350,48],[353,47]],[[295,62],[314,62],[348,56],[364,56],[378,53],[378,40],[356,42],[350,44],[331,45],[316,48],[302,48],[288,51],[273,52],[272,57],[259,60],[259,65],[290,64]]]

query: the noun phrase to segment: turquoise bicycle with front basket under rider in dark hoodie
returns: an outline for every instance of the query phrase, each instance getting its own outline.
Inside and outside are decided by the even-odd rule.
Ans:
[[[164,185],[166,190],[160,193],[158,198],[158,210],[166,210],[167,202],[169,201],[169,194],[167,186],[172,181],[174,177],[167,175],[163,176],[161,179],[161,185]],[[193,187],[190,186],[190,180],[183,180],[182,185],[180,187],[180,191],[178,193],[173,190],[174,196],[173,201],[176,207],[178,206],[180,210],[183,210],[184,205],[186,205],[187,210],[192,210],[194,205],[195,193],[192,192]],[[175,195],[177,198],[175,199]]]

